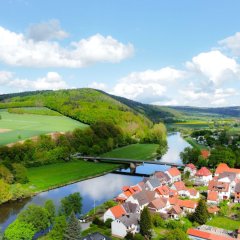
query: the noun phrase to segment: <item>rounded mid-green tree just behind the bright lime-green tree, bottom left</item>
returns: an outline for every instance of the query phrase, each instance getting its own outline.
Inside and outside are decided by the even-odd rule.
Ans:
[[[29,205],[28,208],[18,215],[19,221],[33,224],[36,232],[45,230],[50,225],[48,211],[35,204]]]

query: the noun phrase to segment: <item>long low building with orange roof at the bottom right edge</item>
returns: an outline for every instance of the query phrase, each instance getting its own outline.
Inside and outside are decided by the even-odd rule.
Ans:
[[[233,232],[207,225],[189,228],[187,234],[190,239],[194,240],[236,240],[236,238],[232,237],[234,235]]]

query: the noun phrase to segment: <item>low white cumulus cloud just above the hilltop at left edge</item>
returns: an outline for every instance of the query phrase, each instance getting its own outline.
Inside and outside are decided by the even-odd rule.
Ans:
[[[1,73],[2,72],[0,72],[0,82],[2,79],[4,80],[4,78],[1,78]],[[68,87],[61,75],[59,75],[57,72],[48,72],[46,76],[38,78],[36,80],[14,78],[14,75],[8,72],[7,80],[1,83],[2,86],[8,86],[17,89],[18,91],[58,90]]]

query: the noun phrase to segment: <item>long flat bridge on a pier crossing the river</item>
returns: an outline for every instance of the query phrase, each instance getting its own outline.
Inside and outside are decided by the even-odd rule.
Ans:
[[[163,165],[170,167],[184,167],[184,164],[180,163],[171,163],[171,162],[163,162],[160,160],[134,160],[127,158],[108,158],[108,157],[93,157],[93,156],[81,156],[79,153],[73,154],[73,158],[83,159],[85,161],[92,162],[105,162],[105,163],[115,163],[115,164],[128,164],[131,169],[131,173],[136,173],[136,167],[142,164],[155,164],[155,165]]]

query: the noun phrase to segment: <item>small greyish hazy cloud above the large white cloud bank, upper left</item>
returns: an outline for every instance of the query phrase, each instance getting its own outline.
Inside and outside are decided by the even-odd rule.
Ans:
[[[68,37],[68,33],[61,29],[60,23],[56,19],[32,24],[27,31],[27,35],[34,41],[46,41]]]

